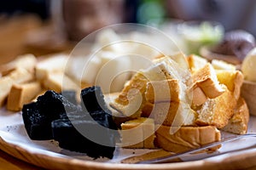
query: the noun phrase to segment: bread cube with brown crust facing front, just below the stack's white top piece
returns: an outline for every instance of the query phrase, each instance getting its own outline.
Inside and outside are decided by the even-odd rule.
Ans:
[[[149,103],[179,102],[179,82],[177,79],[152,81],[147,83],[145,98]]]

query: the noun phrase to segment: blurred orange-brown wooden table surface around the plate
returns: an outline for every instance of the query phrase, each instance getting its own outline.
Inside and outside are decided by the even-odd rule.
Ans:
[[[21,16],[7,19],[0,16],[0,65],[19,54],[35,54],[36,56],[58,53],[73,48],[69,42],[55,37],[49,23],[44,23],[34,16]],[[0,150],[0,169],[4,170],[39,170],[25,161],[9,156]],[[253,170],[250,167],[247,170]]]

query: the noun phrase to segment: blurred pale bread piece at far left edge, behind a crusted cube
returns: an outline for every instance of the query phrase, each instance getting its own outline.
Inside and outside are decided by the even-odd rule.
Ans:
[[[15,83],[28,82],[33,79],[33,74],[24,68],[16,68],[8,76],[0,78],[0,106],[5,104],[12,85]]]

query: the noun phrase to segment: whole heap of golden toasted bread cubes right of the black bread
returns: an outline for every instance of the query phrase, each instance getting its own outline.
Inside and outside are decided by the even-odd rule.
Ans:
[[[241,71],[200,56],[159,56],[138,71],[109,103],[125,148],[181,152],[247,133]],[[216,148],[215,148],[216,149]]]

